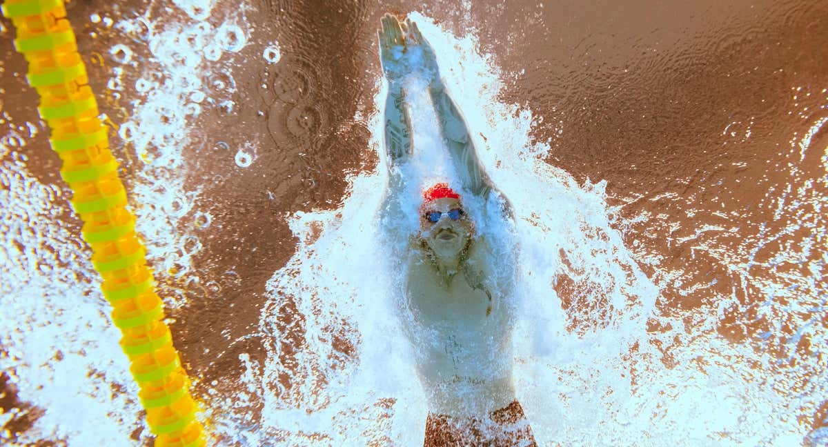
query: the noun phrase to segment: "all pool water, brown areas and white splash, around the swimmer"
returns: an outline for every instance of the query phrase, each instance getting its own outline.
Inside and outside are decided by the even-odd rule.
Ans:
[[[513,204],[541,445],[828,444],[821,2],[68,11],[211,445],[423,440],[380,225],[386,12],[435,47]],[[0,441],[148,445],[0,23]]]

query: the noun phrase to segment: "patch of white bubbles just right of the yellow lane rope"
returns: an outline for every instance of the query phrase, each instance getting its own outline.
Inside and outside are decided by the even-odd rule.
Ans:
[[[141,49],[150,57],[134,65],[137,97],[130,101],[129,118],[121,124],[118,136],[127,143],[127,156],[136,156],[137,181],[130,191],[136,203],[149,204],[136,209],[137,229],[147,242],[147,254],[160,276],[176,281],[200,281],[192,270],[198,250],[182,250],[185,238],[198,235],[190,220],[200,199],[201,185],[187,182],[182,149],[205,150],[205,139],[190,125],[205,110],[234,113],[232,95],[236,84],[230,70],[220,63],[224,55],[238,52],[247,45],[243,31],[246,22],[242,12],[232,12],[224,22],[214,26],[207,19],[214,8],[212,1],[176,0],[176,6],[191,19],[178,22],[169,17],[150,20],[143,17],[124,18],[116,29],[132,37],[130,46],[118,44],[111,53],[116,61],[134,60]],[[128,55],[128,56],[127,56]],[[113,80],[120,82],[123,71]],[[252,143],[240,148],[231,157],[238,166],[247,167],[255,161]],[[171,231],[173,230],[173,231]],[[180,307],[185,296],[178,291],[166,298],[166,305]]]

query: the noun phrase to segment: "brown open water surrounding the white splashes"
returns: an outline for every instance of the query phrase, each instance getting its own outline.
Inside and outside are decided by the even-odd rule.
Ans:
[[[152,260],[165,297],[185,294],[186,304],[171,310],[172,329],[187,370],[198,377],[195,392],[205,399],[211,392],[238,392],[239,353],[259,361],[265,357],[261,336],[250,334],[256,334],[266,281],[295,250],[286,215],[335,209],[346,192],[345,176],[375,169],[368,124],[354,119],[373,113],[381,75],[375,28],[385,12],[402,16],[414,10],[435,17],[455,35],[474,30],[481,52],[502,70],[503,101],[530,109],[536,119],[533,137],[551,145],[546,162],[581,182],[607,180],[614,223],[662,290],[658,313],[681,319],[686,334],[716,330],[729,343],[774,353],[784,361],[764,373],[798,368],[792,390],[808,387],[811,374],[826,368],[826,358],[812,357],[807,334],[793,348],[790,344],[802,324],[828,327],[826,214],[819,208],[826,204],[822,157],[828,131],[817,125],[828,118],[826,2],[521,1],[467,7],[253,2],[247,7],[248,45],[222,60],[221,70],[205,82],[220,90],[232,78],[236,107],[230,113],[205,108],[188,123],[195,138],[182,148],[185,188],[201,189],[194,209],[212,216],[209,228],[199,233],[203,248],[182,276],[162,267],[162,259]],[[89,17],[98,13],[117,21],[147,11],[155,26],[182,16],[166,2],[70,4],[93,89],[105,98],[102,112],[116,126],[131,113],[130,99],[140,96],[132,85],[147,67],[128,68],[123,91],[108,89],[115,65],[109,49],[132,36]],[[232,11],[232,5],[219,3],[213,17]],[[38,120],[35,94],[23,79],[25,63],[13,51],[9,22],[2,24],[0,132],[7,134],[12,126]],[[272,40],[282,54],[275,65],[261,57]],[[133,50],[133,60],[147,57],[140,46]],[[812,127],[816,132],[809,135]],[[802,149],[806,136],[810,140]],[[260,142],[248,168],[236,166],[232,156],[196,151],[221,151],[218,142],[238,147],[248,140]],[[128,184],[140,181],[135,152],[117,137],[112,146]],[[12,153],[24,154],[26,168],[42,183],[65,190],[45,131],[5,157]],[[57,200],[64,211],[67,196]],[[79,235],[77,219],[60,216],[60,225]],[[189,228],[184,227],[179,231]],[[816,307],[766,312],[763,287],[772,284],[792,291],[771,298],[776,305],[784,308],[801,296]],[[557,283],[572,330],[589,325],[570,305],[589,286],[565,276]],[[731,296],[738,305],[716,315],[710,328],[707,311]],[[284,324],[298,318],[278,316]],[[653,321],[649,329],[672,328]],[[290,331],[285,333],[290,339]],[[666,368],[682,343],[658,346]],[[349,345],[338,346],[347,357]],[[4,425],[7,435],[0,440],[13,443],[43,409],[20,401],[3,374],[0,408],[19,412]],[[290,387],[290,377],[280,380]],[[250,404],[253,414],[260,405]],[[790,410],[788,416],[806,427],[804,432],[828,427],[828,401],[816,412]]]

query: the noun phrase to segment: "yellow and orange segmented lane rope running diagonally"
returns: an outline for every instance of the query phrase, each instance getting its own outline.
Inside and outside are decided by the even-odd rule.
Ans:
[[[126,209],[127,191],[109,150],[107,127],[98,118],[65,4],[7,0],[2,12],[17,29],[15,47],[29,63],[29,84],[40,94],[38,111],[51,129],[51,147],[63,160],[60,175],[74,191],[72,205],[84,221],[83,237],[103,277],[101,290],[123,334],[121,348],[140,387],[138,398],[156,445],[205,445],[190,379],[161,320],[164,310],[146,248],[135,232],[135,216]]]

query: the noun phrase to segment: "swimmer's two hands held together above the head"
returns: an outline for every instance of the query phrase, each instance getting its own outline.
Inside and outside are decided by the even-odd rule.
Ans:
[[[382,20],[379,38],[380,61],[388,83],[399,84],[409,74],[424,76],[429,84],[440,80],[440,71],[434,50],[420,33],[416,23],[400,23],[397,17],[386,14]]]

